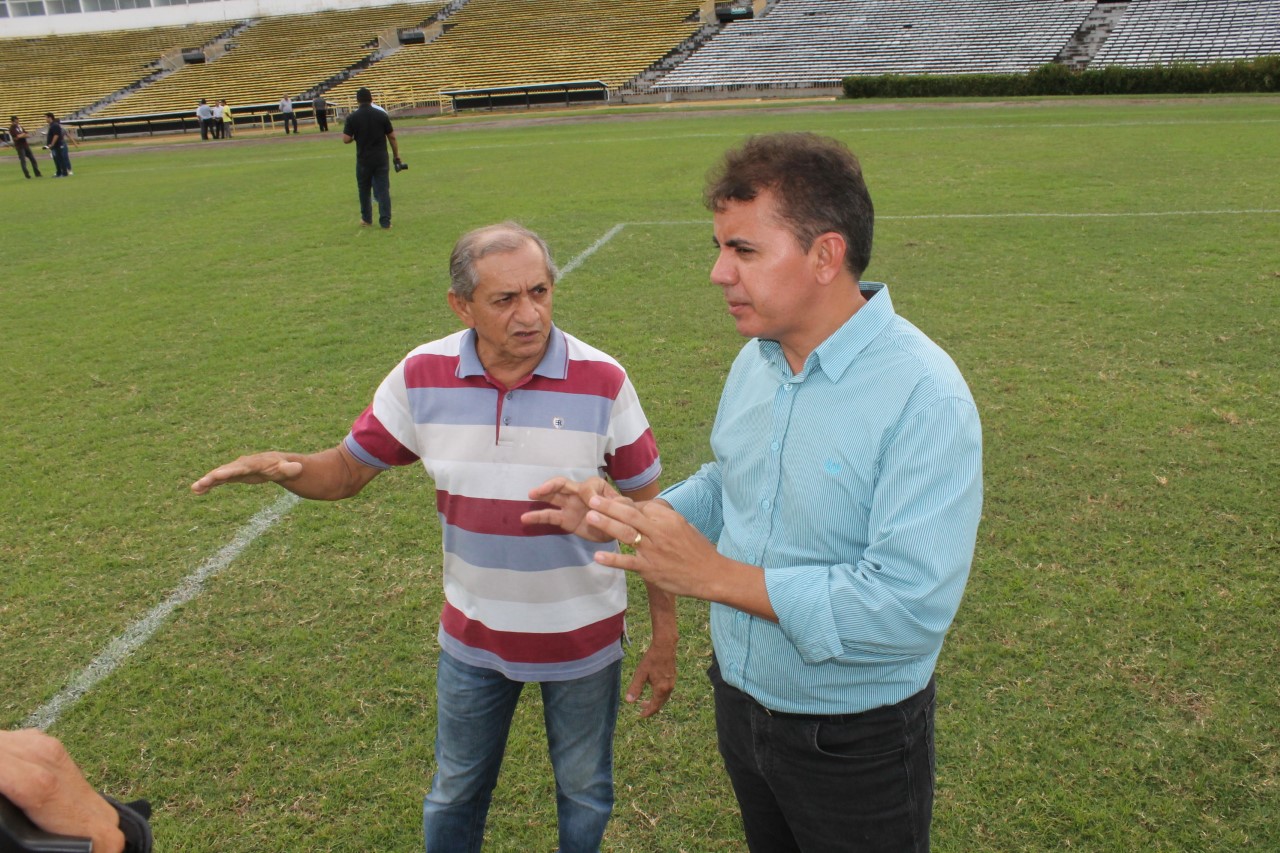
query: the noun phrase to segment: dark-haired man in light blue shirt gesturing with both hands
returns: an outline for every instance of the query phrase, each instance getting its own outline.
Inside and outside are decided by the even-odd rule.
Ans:
[[[724,292],[751,338],[714,461],[646,503],[552,480],[553,523],[712,602],[721,754],[756,853],[927,850],[933,670],[982,511],[982,429],[951,359],[861,283],[873,207],[854,155],[754,137],[707,190]]]

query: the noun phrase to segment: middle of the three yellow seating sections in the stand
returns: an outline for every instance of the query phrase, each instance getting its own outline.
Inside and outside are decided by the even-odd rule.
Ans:
[[[232,106],[269,104],[282,95],[315,92],[381,50],[394,50],[397,32],[417,28],[443,3],[365,6],[306,15],[260,18],[237,32],[211,61],[186,64],[122,97],[96,118],[191,110],[206,99]]]

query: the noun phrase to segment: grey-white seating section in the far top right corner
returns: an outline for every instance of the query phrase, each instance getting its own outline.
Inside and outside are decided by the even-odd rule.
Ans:
[[[1280,0],[1130,0],[1092,68],[1280,55]]]

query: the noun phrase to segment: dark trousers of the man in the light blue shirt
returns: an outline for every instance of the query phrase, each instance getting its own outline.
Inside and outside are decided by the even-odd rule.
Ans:
[[[840,716],[781,715],[708,670],[716,733],[753,853],[929,849],[934,683]]]

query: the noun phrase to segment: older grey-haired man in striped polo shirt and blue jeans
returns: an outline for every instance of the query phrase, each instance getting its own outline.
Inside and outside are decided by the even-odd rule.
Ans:
[[[598,850],[613,807],[626,575],[590,543],[521,515],[554,475],[603,471],[623,496],[653,498],[658,447],[621,365],[552,323],[556,268],[540,237],[516,223],[474,231],[449,274],[449,306],[467,328],[410,352],[340,444],[241,457],[192,488],[275,482],[338,500],[421,461],[435,480],[445,598],[426,849],[480,849],[516,702],[536,681],[559,849]],[[648,686],[643,716],[676,678],[673,596],[650,588],[649,612],[653,642],[627,689],[635,702]]]

